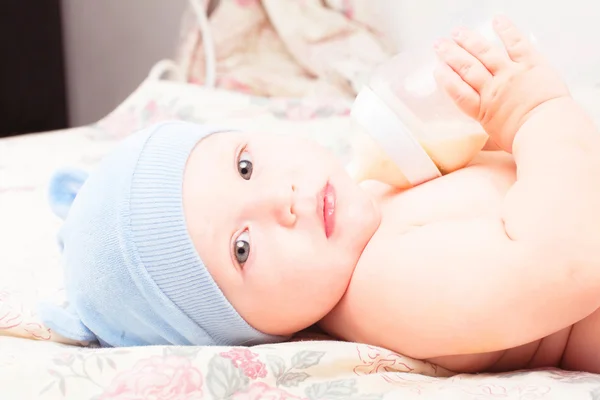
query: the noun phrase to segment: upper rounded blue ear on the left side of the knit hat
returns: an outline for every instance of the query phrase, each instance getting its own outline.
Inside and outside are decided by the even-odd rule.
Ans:
[[[52,212],[63,220],[67,218],[71,204],[89,174],[77,168],[62,168],[54,173],[48,187]]]

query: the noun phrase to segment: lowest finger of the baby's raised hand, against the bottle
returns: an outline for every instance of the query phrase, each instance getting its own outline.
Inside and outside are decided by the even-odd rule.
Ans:
[[[450,96],[462,112],[471,118],[479,116],[479,94],[447,64],[440,63],[434,72],[438,85]]]

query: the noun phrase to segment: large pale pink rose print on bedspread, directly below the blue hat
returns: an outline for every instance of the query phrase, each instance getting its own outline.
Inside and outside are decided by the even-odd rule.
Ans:
[[[102,400],[196,400],[202,398],[202,373],[189,359],[150,357],[118,374]]]

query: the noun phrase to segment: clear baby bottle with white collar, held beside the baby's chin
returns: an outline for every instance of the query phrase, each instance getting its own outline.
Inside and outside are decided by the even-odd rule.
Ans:
[[[475,28],[498,42],[491,20]],[[375,68],[352,106],[346,167],[356,181],[399,189],[466,166],[488,140],[438,87],[432,46],[402,52]]]

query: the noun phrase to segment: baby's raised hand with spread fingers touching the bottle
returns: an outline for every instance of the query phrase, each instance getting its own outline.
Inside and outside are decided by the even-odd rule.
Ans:
[[[504,49],[476,32],[456,29],[436,43],[436,80],[491,139],[512,150],[515,134],[541,104],[569,96],[567,86],[530,41],[506,18],[494,20]]]

